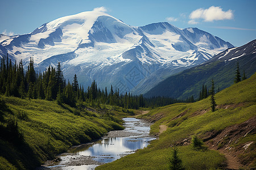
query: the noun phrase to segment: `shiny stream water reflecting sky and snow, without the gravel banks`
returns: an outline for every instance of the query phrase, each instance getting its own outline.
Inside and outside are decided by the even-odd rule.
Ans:
[[[140,148],[146,147],[150,141],[155,138],[149,137],[150,125],[136,118],[123,118],[125,121],[125,130],[118,133],[131,133],[129,137],[107,137],[93,144],[82,145],[72,148],[69,153],[73,154],[76,159],[80,156],[92,156],[94,161],[99,164],[113,162],[122,156],[132,154]],[[68,155],[70,157],[70,155]],[[69,159],[68,156],[61,156],[62,160]],[[73,159],[73,158],[72,158]],[[65,161],[60,164],[65,164]],[[72,167],[62,167],[61,169],[81,169],[95,168],[97,165],[80,165]]]

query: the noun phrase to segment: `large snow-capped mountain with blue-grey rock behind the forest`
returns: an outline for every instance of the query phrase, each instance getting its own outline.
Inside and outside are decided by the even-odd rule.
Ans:
[[[146,92],[160,80],[198,65],[233,45],[197,28],[169,23],[133,27],[104,12],[88,11],[43,24],[26,35],[0,35],[0,55],[44,71],[61,62],[65,78],[85,86]]]

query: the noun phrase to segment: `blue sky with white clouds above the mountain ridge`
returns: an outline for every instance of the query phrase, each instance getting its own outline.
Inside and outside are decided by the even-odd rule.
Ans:
[[[179,28],[197,27],[234,46],[256,39],[254,0],[0,0],[0,33],[30,33],[44,23],[96,7],[133,26],[169,22]]]

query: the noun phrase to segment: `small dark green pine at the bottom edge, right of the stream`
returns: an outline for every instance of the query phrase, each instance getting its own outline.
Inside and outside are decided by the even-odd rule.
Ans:
[[[172,155],[169,158],[168,169],[171,169],[171,170],[184,169],[184,167],[182,165],[182,160],[179,158],[177,153],[178,153],[178,149],[176,146],[174,146],[174,148],[172,150]]]

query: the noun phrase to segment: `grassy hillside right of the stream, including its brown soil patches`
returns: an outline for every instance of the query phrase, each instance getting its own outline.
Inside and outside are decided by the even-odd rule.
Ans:
[[[218,150],[237,155],[245,167],[255,167],[255,85],[256,74],[218,92],[215,112],[210,109],[208,97],[196,103],[177,103],[144,114],[143,118],[155,121],[151,134],[158,135],[160,125],[165,125],[167,130],[147,148],[97,169],[166,169],[174,145],[178,145],[179,157],[186,169],[224,168],[227,160]],[[195,150],[191,145],[194,135],[212,149]]]

